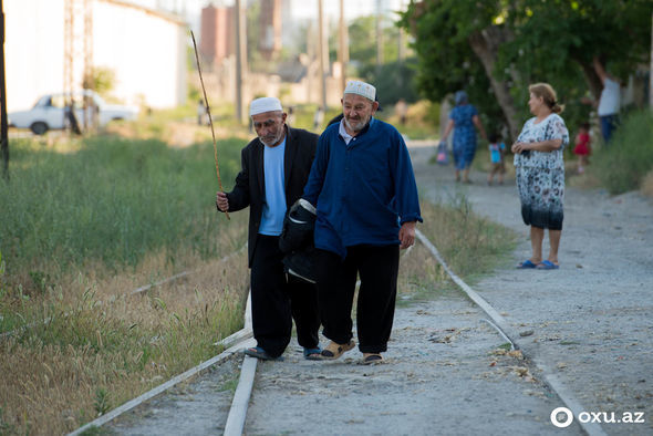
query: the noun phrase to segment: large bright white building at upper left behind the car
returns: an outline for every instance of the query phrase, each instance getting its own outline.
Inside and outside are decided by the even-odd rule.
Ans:
[[[65,55],[71,22],[66,4],[75,1],[87,8],[86,23],[92,24],[80,33],[84,17],[74,15],[71,63]],[[4,0],[3,8],[8,112],[28,108],[43,94],[65,91],[65,65],[74,65],[72,87],[81,89],[89,51],[93,66],[115,74],[111,97],[153,108],[185,103],[189,34],[179,17],[120,0]],[[80,50],[84,38],[92,41],[86,51]]]

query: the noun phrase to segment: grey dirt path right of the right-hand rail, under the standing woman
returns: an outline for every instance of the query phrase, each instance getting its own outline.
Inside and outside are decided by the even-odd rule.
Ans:
[[[460,186],[450,181],[453,168],[427,164],[432,154],[412,150],[423,193],[429,199],[463,193],[475,211],[520,235],[514,264],[527,259],[514,180]],[[653,434],[653,204],[635,193],[568,189],[560,263],[558,271],[507,266],[475,289],[512,326],[533,331],[522,342],[587,412],[614,412],[615,419],[644,413],[645,424],[604,424],[608,434]]]

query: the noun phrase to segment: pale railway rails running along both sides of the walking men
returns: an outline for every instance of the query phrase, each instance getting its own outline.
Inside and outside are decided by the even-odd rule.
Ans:
[[[507,321],[506,319],[495,309],[491,304],[489,304],[485,299],[483,299],[474,289],[471,289],[467,283],[465,283],[446,263],[445,259],[440,256],[437,248],[419,231],[417,231],[417,240],[428,250],[431,256],[433,256],[437,262],[443,267],[446,273],[449,276],[452,281],[456,283],[458,289],[463,292],[463,294],[468,298],[474,305],[483,311],[483,313],[487,316],[487,319],[483,319],[496,332],[507,342],[511,344],[511,349],[520,350],[526,357],[528,357],[535,366],[539,370],[540,377],[543,378],[543,382],[548,385],[548,388],[551,393],[557,396],[563,405],[573,412],[574,416],[579,416],[578,414],[582,411],[587,411],[582,406],[582,404],[574,397],[573,393],[567,390],[562,383],[556,377],[551,368],[549,368],[543,362],[540,362],[535,353],[531,352],[529,345],[520,339],[519,332],[517,332]],[[153,397],[160,395],[162,393],[168,391],[173,386],[188,381],[203,372],[207,368],[220,365],[225,363],[229,357],[234,356],[236,353],[239,353],[240,350],[247,346],[251,346],[255,344],[253,339],[251,338],[251,318],[249,316],[250,309],[249,309],[249,300],[248,300],[248,309],[246,310],[246,326],[239,331],[226,338],[221,341],[227,350],[222,353],[218,354],[217,356],[203,362],[200,365],[188,370],[184,374],[180,374],[170,381],[157,386],[156,388],[141,395],[137,398],[124,404],[123,406],[112,411],[111,413],[101,416],[100,418],[80,427],[77,430],[71,433],[71,435],[79,435],[82,434],[84,430],[91,427],[99,427],[110,423],[111,421],[115,419],[116,417],[125,414],[128,411],[134,409],[135,407],[139,406],[141,404],[152,399]],[[249,356],[243,356],[240,376],[238,381],[238,386],[236,388],[231,406],[229,409],[229,414],[227,416],[225,426],[224,426],[224,434],[225,435],[241,435],[245,433],[245,423],[247,421],[247,412],[248,406],[250,403],[250,397],[252,395],[252,391],[255,391],[255,375],[257,371],[257,360]],[[579,423],[582,427],[582,433],[588,435],[605,435],[603,429],[599,424],[595,423]],[[551,427],[552,428],[552,427]]]

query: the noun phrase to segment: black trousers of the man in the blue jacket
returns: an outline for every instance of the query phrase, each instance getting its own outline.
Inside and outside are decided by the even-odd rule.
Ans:
[[[398,246],[348,247],[340,256],[318,250],[318,295],[323,334],[344,344],[352,339],[352,305],[356,276],[361,277],[356,303],[359,350],[381,353],[387,350],[396,301]]]

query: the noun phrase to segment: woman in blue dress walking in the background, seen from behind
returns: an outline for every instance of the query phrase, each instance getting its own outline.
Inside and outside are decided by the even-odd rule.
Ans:
[[[454,163],[456,165],[456,181],[460,181],[460,172],[463,172],[463,181],[471,183],[469,180],[469,167],[474,155],[476,154],[476,128],[480,132],[480,136],[487,139],[480,120],[478,120],[478,111],[467,101],[467,93],[458,91],[455,95],[456,107],[449,114],[449,123],[442,137],[446,141],[449,133],[454,131]]]

